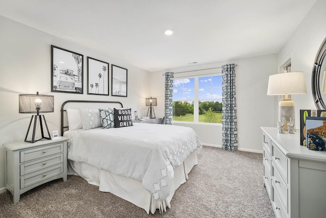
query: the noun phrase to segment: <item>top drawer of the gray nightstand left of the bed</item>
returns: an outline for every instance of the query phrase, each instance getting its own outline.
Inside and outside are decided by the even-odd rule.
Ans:
[[[63,143],[51,144],[36,149],[29,149],[20,152],[20,163],[34,160],[37,158],[47,157],[49,155],[63,152]]]

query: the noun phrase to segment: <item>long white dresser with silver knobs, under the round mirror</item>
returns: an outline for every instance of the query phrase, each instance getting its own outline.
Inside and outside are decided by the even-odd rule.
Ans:
[[[263,181],[276,217],[326,217],[326,152],[300,146],[300,134],[262,127]]]

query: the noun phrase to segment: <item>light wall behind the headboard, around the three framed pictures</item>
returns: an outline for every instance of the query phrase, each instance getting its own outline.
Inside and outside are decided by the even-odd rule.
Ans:
[[[46,113],[50,133],[60,131],[60,108],[66,100],[121,101],[125,107],[146,109],[145,98],[150,93],[150,72],[134,67],[114,57],[87,47],[38,31],[0,16],[0,145],[23,141],[31,114],[18,113],[18,94],[51,94],[55,96],[55,112]],[[50,45],[84,55],[84,94],[51,92]],[[128,69],[128,97],[96,96],[87,94],[87,56]],[[110,78],[111,78],[111,66]],[[111,84],[110,84],[111,87]],[[5,152],[0,146],[0,192],[4,190]]]

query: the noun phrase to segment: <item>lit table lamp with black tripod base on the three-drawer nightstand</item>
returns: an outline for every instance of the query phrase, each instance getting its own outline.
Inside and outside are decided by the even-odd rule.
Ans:
[[[31,117],[30,125],[27,130],[24,141],[34,143],[39,140],[51,139],[49,129],[47,128],[45,117],[43,114],[40,115],[40,113],[53,112],[54,102],[55,102],[55,97],[53,95],[43,95],[43,94],[39,94],[39,92],[36,92],[36,94],[19,94],[19,113],[36,113],[36,115],[32,115]],[[32,139],[27,140],[33,119],[34,119],[34,123],[33,123]],[[35,134],[38,129],[37,127],[38,120],[39,120],[42,137],[40,139],[35,140]],[[44,136],[43,122],[44,122],[44,126],[46,127],[48,137]]]

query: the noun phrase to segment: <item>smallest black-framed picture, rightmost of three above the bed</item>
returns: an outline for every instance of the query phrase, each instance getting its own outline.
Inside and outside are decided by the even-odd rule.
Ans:
[[[111,83],[111,95],[112,96],[127,96],[127,74],[126,68],[111,65],[112,83]]]

